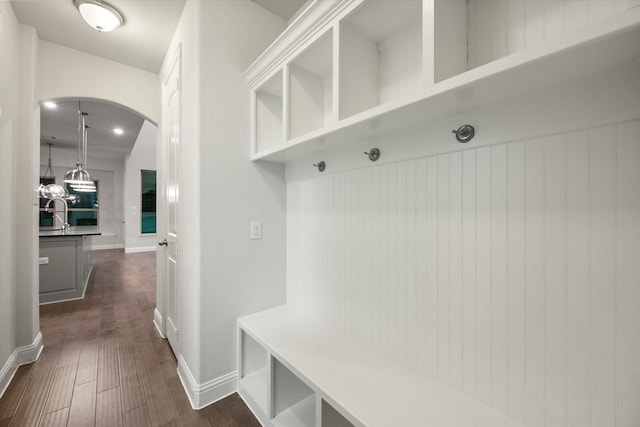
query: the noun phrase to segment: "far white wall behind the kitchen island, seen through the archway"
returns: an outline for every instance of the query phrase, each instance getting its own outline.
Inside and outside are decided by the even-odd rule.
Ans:
[[[49,147],[40,147],[40,174],[47,168]],[[56,177],[56,183],[63,185],[65,173],[73,169],[78,158],[78,151],[74,149],[51,149],[51,164]],[[107,157],[87,156],[87,170],[98,183],[99,226],[102,235],[92,238],[93,249],[121,249],[124,247],[124,160]],[[56,210],[62,213],[62,203]],[[62,215],[60,215],[62,217]]]

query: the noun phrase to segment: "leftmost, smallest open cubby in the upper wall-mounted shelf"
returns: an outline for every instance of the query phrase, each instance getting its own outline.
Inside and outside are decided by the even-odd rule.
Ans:
[[[255,91],[255,151],[261,152],[282,144],[283,122],[282,70]]]

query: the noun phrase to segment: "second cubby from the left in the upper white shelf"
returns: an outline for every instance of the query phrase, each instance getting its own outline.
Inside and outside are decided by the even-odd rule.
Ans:
[[[326,32],[289,63],[289,139],[329,124],[333,116],[333,36]]]

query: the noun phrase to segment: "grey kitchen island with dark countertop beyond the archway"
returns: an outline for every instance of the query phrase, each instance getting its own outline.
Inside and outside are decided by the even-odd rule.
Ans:
[[[91,276],[96,226],[40,228],[40,304],[84,298]]]

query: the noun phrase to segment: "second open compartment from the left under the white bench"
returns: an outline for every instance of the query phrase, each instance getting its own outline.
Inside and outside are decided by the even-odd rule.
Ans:
[[[293,372],[271,359],[273,425],[278,427],[315,427],[316,395]]]

